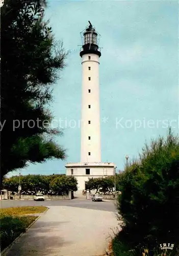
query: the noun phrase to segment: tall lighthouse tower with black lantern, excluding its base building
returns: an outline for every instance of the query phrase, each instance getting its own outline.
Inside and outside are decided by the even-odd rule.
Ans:
[[[81,162],[101,162],[98,33],[89,22],[82,58]]]

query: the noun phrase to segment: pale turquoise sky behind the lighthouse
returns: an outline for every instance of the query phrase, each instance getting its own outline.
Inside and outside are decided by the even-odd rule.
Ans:
[[[80,32],[88,20],[101,35],[102,161],[123,170],[125,155],[129,160],[138,157],[145,142],[166,136],[168,125],[178,133],[177,13],[176,1],[48,1],[45,18],[70,51],[50,106],[63,130],[56,142],[68,157],[30,164],[20,169],[22,175],[62,174],[65,163],[80,161]]]

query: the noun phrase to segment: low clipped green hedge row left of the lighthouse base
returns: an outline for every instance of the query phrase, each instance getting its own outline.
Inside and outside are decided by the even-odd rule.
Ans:
[[[19,176],[5,178],[3,187],[12,192],[18,191]],[[66,175],[26,175],[20,176],[21,194],[34,195],[42,192],[44,195],[67,194],[68,190],[76,191],[78,182],[73,176]]]

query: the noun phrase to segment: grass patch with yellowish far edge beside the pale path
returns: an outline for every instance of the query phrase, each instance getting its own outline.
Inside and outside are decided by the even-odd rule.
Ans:
[[[44,212],[44,206],[25,206],[0,209],[1,251],[9,246],[38,216],[24,216]]]

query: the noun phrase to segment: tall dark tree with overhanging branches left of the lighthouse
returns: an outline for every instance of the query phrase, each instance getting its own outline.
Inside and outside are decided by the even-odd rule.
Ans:
[[[48,109],[66,51],[44,20],[45,0],[5,0],[1,8],[1,181],[28,163],[65,158]]]

